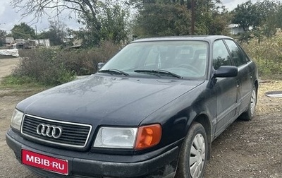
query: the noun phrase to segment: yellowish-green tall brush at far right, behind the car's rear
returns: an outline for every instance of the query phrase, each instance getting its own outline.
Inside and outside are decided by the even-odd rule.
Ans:
[[[260,39],[255,37],[242,45],[257,63],[259,76],[282,78],[282,35]]]

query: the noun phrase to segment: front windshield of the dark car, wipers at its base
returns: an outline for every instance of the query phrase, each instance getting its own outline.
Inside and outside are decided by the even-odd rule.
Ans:
[[[208,44],[202,41],[135,42],[124,47],[99,72],[203,78],[207,73],[207,52]]]

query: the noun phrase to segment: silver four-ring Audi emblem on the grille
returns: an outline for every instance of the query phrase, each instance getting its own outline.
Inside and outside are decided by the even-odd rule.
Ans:
[[[36,128],[37,134],[53,138],[60,138],[63,133],[61,126],[51,126],[49,124],[39,124]]]

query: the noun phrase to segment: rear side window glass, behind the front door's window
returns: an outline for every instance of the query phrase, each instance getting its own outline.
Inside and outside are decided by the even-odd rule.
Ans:
[[[231,52],[231,57],[233,58],[235,66],[242,66],[243,64],[246,64],[247,59],[235,42],[233,42],[233,40],[225,40],[225,42]]]

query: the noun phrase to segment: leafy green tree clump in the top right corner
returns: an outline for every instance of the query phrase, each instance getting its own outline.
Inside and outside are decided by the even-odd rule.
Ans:
[[[240,4],[232,11],[233,23],[239,23],[245,28],[245,32],[240,34],[239,40],[247,42],[253,37],[257,37],[258,42],[262,35],[272,37],[276,35],[277,29],[282,28],[282,4],[279,1],[257,1],[252,4],[247,1]],[[252,30],[249,30],[252,27]]]

